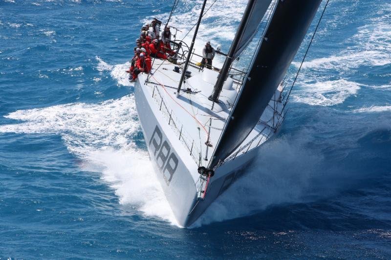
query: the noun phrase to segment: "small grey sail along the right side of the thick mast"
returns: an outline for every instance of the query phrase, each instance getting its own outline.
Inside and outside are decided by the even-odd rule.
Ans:
[[[250,8],[250,15],[245,20],[245,30],[240,37],[239,44],[235,50],[234,60],[239,57],[242,51],[250,44],[251,40],[253,40],[254,36],[258,32],[258,28],[260,26],[261,20],[266,13],[267,8],[270,5],[272,0],[255,0],[249,1],[247,8]]]

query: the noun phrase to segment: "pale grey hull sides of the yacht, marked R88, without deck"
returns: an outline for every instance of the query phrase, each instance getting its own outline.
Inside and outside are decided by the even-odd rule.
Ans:
[[[218,167],[215,176],[211,178],[208,185],[207,196],[203,200],[198,199],[196,186],[199,176],[197,172],[198,165],[176,136],[165,134],[171,133],[172,130],[166,120],[162,120],[159,114],[153,113],[153,111],[159,112],[159,107],[153,102],[152,93],[145,90],[147,89],[143,89],[143,86],[137,80],[135,84],[135,100],[137,111],[142,111],[138,115],[145,142],[154,171],[170,203],[175,218],[181,226],[187,227],[197,220],[229,185],[238,179],[244,172],[245,166],[255,157],[257,149],[253,149],[246,154],[238,156],[235,160]],[[158,143],[157,147],[154,145],[154,140]],[[167,152],[165,147],[162,147],[165,141],[168,144],[165,147],[170,147]],[[162,156],[159,157],[161,151]],[[168,158],[163,165],[161,157],[167,156]],[[175,167],[176,163],[172,158],[178,160],[173,174],[169,172],[170,169],[166,169],[167,163],[173,165],[172,168]]]

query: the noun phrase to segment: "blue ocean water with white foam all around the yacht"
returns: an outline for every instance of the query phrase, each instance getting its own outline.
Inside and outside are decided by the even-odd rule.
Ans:
[[[200,2],[178,5],[177,37]],[[190,229],[154,178],[124,72],[172,3],[0,2],[0,259],[391,258],[391,2],[329,1],[280,134]],[[244,7],[218,0],[198,50],[226,51]]]

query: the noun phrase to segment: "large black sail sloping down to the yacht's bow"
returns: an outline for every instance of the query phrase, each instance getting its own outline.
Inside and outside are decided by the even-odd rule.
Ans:
[[[246,139],[286,74],[322,0],[278,0],[258,53],[210,161],[214,168]]]

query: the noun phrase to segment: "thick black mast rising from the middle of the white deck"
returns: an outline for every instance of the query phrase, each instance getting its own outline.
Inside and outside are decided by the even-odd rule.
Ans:
[[[232,42],[231,48],[229,49],[227,58],[224,61],[223,67],[221,68],[220,74],[217,77],[217,81],[216,81],[215,87],[213,89],[213,93],[209,97],[209,100],[212,100],[214,102],[218,101],[218,97],[220,96],[220,92],[221,92],[221,89],[222,89],[224,81],[225,81],[225,77],[227,76],[229,68],[231,67],[232,62],[234,61],[235,53],[237,51],[242,34],[243,34],[244,30],[246,29],[247,20],[251,14],[251,11],[253,9],[253,5],[254,5],[255,1],[256,0],[249,0],[247,3],[247,7],[246,7],[246,10],[244,11],[243,17],[240,21],[238,31],[236,32],[236,35],[235,35],[235,38]]]

